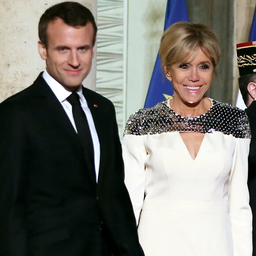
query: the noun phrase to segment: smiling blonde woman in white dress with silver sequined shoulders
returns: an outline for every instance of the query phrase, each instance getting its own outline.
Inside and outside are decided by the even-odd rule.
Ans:
[[[162,36],[174,96],[140,109],[124,131],[125,182],[145,256],[251,256],[245,112],[205,97],[220,56],[203,24]]]

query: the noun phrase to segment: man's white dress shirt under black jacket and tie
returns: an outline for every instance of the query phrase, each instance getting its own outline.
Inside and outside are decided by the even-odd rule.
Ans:
[[[56,98],[60,101],[75,131],[77,132],[74,117],[72,114],[72,105],[66,100],[66,98],[68,98],[68,96],[72,94],[72,92],[66,90],[60,83],[58,83],[55,79],[53,79],[53,77],[51,77],[46,70],[43,72],[43,78],[45,79],[45,82],[49,85],[49,87],[52,89]],[[87,105],[87,101],[83,96],[82,85],[79,87],[76,93],[79,95],[81,106],[83,108],[84,113],[86,114],[89,128],[90,128],[90,133],[92,136],[93,147],[94,147],[94,165],[95,165],[95,172],[96,172],[96,180],[98,181],[98,173],[99,173],[99,165],[100,165],[100,143],[98,139],[98,134],[94,125],[93,117],[90,113],[90,109]]]

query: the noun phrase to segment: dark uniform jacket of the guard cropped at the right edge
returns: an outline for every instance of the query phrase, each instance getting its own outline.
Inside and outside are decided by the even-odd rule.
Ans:
[[[248,115],[252,133],[250,151],[248,156],[248,189],[250,193],[250,206],[252,208],[252,243],[253,256],[256,256],[256,101],[245,109]]]

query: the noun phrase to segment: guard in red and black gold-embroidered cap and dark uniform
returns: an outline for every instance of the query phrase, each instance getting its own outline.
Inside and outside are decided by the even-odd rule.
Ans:
[[[247,109],[252,138],[248,156],[248,189],[252,208],[253,256],[256,256],[256,41],[237,45],[239,89]]]

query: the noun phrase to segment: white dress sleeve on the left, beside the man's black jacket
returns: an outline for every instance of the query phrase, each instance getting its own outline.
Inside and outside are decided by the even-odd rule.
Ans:
[[[142,209],[145,192],[145,150],[143,137],[139,135],[124,135],[124,182],[128,189],[137,225]]]

